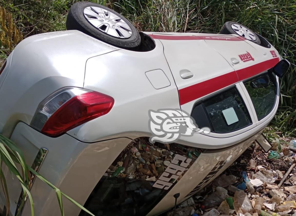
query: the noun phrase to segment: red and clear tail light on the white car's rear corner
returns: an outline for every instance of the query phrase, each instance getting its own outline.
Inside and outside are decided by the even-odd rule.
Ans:
[[[114,99],[108,95],[79,88],[65,88],[39,104],[30,125],[48,136],[57,137],[107,114],[113,104]]]

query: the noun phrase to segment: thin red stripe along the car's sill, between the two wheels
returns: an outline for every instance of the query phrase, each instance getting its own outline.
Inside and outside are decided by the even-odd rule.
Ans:
[[[172,35],[149,35],[154,39],[160,40],[227,40],[227,41],[242,41],[246,40],[244,37],[238,36],[172,36]]]

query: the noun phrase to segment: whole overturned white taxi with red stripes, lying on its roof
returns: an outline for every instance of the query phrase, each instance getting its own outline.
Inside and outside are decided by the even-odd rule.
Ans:
[[[137,32],[111,9],[78,2],[67,29],[28,37],[7,58],[0,132],[95,215],[174,207],[175,194],[180,203],[210,183],[276,113],[289,63],[243,25],[226,22],[220,34]],[[30,215],[28,203],[19,209],[20,184],[4,175],[9,215]],[[55,192],[32,182],[36,215],[59,215]],[[68,200],[64,210],[86,215]]]

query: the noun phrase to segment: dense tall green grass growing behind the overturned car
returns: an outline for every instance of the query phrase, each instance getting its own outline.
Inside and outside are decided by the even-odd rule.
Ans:
[[[77,0],[0,0],[24,37],[65,30]],[[268,132],[296,136],[296,0],[92,0],[128,17],[143,31],[219,32],[226,21],[250,27],[270,41],[292,67],[281,83],[281,104]],[[1,50],[2,59],[9,53]]]

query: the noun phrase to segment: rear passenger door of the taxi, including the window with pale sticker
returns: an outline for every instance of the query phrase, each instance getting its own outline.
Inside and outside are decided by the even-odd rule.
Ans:
[[[217,36],[204,34],[188,36],[161,35],[158,38],[161,38],[160,40],[164,45],[164,54],[178,87],[180,106],[183,111],[192,115],[194,114],[194,108],[199,103],[201,104],[203,100],[207,100],[212,96],[215,97],[220,92],[222,94],[227,89],[234,89],[235,91],[234,94],[227,93],[227,98],[239,97],[239,103],[243,104],[244,109],[246,109],[243,116],[249,115],[248,118],[251,122],[250,124],[246,124],[246,127],[239,127],[237,130],[226,132],[211,132],[208,134],[209,136],[217,138],[230,137],[255,127],[255,124],[252,124],[254,122],[253,113],[250,111],[251,108],[244,91],[242,91],[241,86],[238,84],[239,78],[236,71],[221,53],[208,44],[209,41],[217,43],[225,42],[223,43],[224,49],[227,49],[229,47],[226,46],[226,42],[235,42],[236,45],[240,45],[244,41],[231,35]],[[249,45],[247,44],[247,46]],[[233,52],[235,53],[235,51]],[[225,104],[227,102],[224,101],[223,103]],[[219,103],[215,104],[213,102],[209,109],[221,114],[224,110],[221,110],[219,106]],[[239,104],[236,106],[239,106]],[[229,107],[229,104],[225,104],[224,107]],[[210,113],[206,112],[204,113],[204,118],[209,119]],[[198,110],[197,113],[198,118],[202,118],[202,110]],[[228,115],[229,118],[232,114],[230,113]],[[223,118],[226,120],[225,116]],[[192,137],[193,139],[195,139],[194,136]]]

